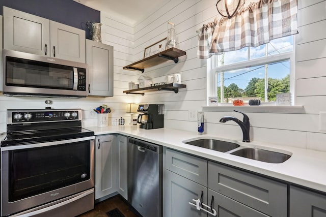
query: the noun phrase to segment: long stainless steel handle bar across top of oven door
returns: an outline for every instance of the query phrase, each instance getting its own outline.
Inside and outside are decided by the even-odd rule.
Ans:
[[[73,143],[73,142],[82,142],[82,141],[94,140],[94,139],[95,139],[95,136],[89,136],[89,137],[66,139],[66,140],[53,141],[53,142],[42,142],[42,143],[28,144],[28,145],[4,146],[4,147],[1,147],[1,151],[27,149],[27,148],[37,148],[37,147],[45,147],[45,146],[51,146],[51,145],[61,145],[61,144],[67,144],[67,143]]]

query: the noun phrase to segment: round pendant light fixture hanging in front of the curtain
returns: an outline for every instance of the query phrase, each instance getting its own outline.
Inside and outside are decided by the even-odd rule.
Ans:
[[[240,7],[243,7],[244,0],[218,0],[216,9],[218,12],[227,18],[233,17]]]

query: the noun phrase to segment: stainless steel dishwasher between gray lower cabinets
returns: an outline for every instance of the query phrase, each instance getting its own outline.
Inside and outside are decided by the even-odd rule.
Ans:
[[[162,146],[129,138],[128,202],[143,217],[162,216]]]

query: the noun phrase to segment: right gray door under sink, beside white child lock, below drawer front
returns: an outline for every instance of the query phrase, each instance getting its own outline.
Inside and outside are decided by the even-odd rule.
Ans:
[[[249,206],[208,189],[208,204],[216,210],[219,217],[268,217]],[[210,216],[210,214],[208,214]]]

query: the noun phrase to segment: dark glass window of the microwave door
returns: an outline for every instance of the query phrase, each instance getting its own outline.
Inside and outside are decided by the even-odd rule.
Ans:
[[[73,89],[73,67],[15,58],[6,73],[6,85]]]

